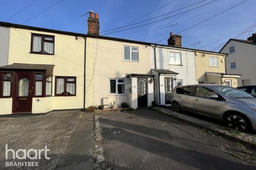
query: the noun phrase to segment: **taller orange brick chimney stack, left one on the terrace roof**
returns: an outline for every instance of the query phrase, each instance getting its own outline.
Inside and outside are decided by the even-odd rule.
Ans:
[[[100,22],[99,22],[99,15],[97,13],[94,14],[93,17],[93,12],[90,10],[90,15],[87,20],[88,24],[88,34],[91,35],[99,35],[100,33]]]

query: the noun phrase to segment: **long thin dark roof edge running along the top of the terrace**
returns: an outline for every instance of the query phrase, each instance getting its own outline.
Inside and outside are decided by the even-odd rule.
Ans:
[[[28,26],[28,25],[14,24],[14,23],[9,23],[9,22],[1,22],[0,21],[0,26],[1,27],[13,27],[13,28],[29,29],[29,30],[36,30],[36,31],[53,32],[53,33],[60,33],[60,34],[63,34],[63,35],[70,35],[70,36],[99,38],[99,39],[122,41],[122,42],[127,42],[127,43],[142,44],[142,45],[149,45],[149,46],[150,45],[156,45],[156,46],[164,46],[164,47],[171,47],[171,48],[187,49],[187,50],[193,50],[193,51],[205,52],[205,53],[214,53],[214,54],[227,55],[226,53],[212,52],[212,51],[208,51],[208,50],[193,49],[193,48],[178,47],[178,46],[169,46],[169,45],[164,45],[164,44],[156,44],[156,43],[149,43],[149,42],[145,42],[145,41],[129,40],[129,39],[115,38],[115,37],[106,37],[106,36],[100,36],[100,35],[87,35],[85,33],[53,30],[53,29],[40,28],[40,27],[31,27],[31,26]]]

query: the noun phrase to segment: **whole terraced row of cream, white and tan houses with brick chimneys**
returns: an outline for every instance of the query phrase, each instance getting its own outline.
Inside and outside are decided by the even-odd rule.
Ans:
[[[0,22],[0,114],[170,105],[175,86],[237,84],[226,54],[182,47],[172,33],[167,45],[100,36],[93,12],[87,22],[87,34]]]

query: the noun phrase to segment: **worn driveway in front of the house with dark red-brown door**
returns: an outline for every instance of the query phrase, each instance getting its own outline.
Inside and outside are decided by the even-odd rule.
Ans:
[[[0,118],[0,169],[92,169],[93,115],[79,111]],[[39,160],[5,159],[8,149],[44,149]],[[22,152],[20,153],[22,156]],[[33,152],[32,152],[33,154]],[[32,155],[32,156],[35,156]],[[6,167],[6,162],[38,162],[38,167]]]

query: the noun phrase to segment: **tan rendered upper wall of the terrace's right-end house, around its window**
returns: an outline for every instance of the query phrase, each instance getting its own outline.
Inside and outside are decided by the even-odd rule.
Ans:
[[[212,67],[209,64],[209,57],[218,57],[218,67]],[[197,81],[206,81],[205,72],[216,72],[216,73],[225,73],[225,55],[218,54],[203,54],[197,52],[195,55],[195,64],[196,64],[196,80]]]

